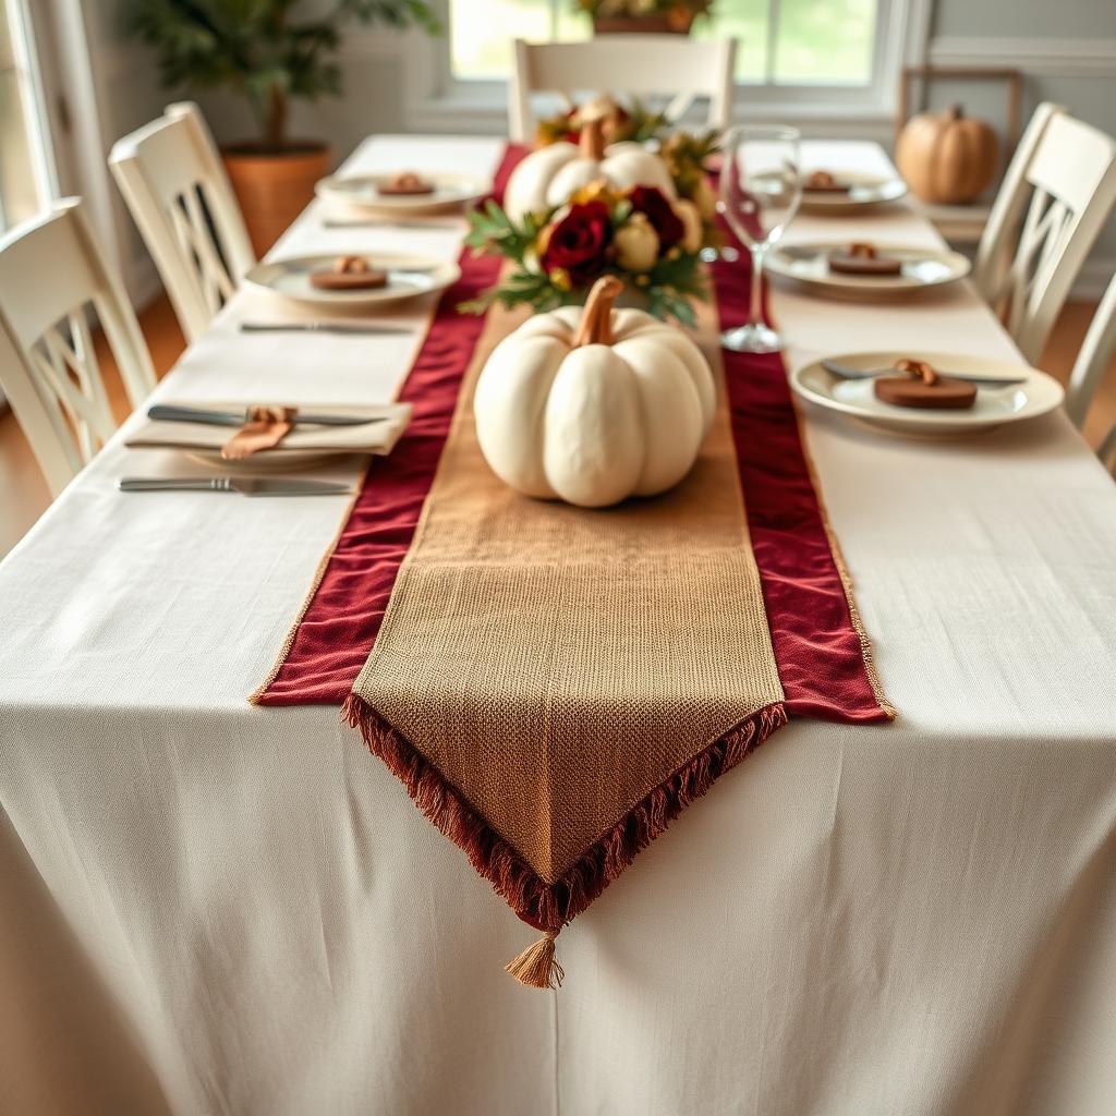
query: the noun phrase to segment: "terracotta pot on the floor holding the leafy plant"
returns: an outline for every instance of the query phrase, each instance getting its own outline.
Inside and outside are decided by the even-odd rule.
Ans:
[[[325,144],[301,144],[282,154],[241,144],[221,154],[257,256],[262,256],[306,209],[314,198],[314,184],[329,173]]]

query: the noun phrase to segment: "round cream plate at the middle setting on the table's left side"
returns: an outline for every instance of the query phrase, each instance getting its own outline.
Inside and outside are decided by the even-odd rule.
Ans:
[[[326,256],[297,256],[287,260],[257,263],[244,281],[252,287],[281,295],[296,302],[312,306],[376,306],[415,298],[432,290],[442,290],[461,277],[456,263],[440,260],[433,256],[415,252],[371,252],[353,253],[365,256],[372,267],[387,271],[386,287],[367,290],[323,290],[310,283],[315,271],[328,271],[337,260],[338,252]]]

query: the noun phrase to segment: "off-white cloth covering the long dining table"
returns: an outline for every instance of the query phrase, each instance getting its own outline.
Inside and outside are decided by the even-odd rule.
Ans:
[[[377,135],[341,173],[489,180],[504,146]],[[873,143],[802,161],[894,174]],[[270,257],[455,260],[468,228],[333,217]],[[906,202],[786,237],[840,239],[942,247]],[[1021,363],[969,280],[769,298],[788,371]],[[436,301],[246,333],[320,314],[242,287],[153,402],[386,403]],[[336,705],[248,700],[352,498],[122,493],[219,472],[128,448],[142,421],[0,564],[0,1110],[1116,1110],[1116,485],[1061,411],[911,437],[800,404],[897,716],[792,719],[564,932],[550,992],[500,971],[523,926]]]

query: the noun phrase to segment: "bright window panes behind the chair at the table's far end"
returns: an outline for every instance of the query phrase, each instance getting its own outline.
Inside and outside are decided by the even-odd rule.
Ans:
[[[737,79],[762,85],[869,86],[885,0],[718,0],[699,38],[737,39]],[[480,11],[483,18],[478,18]],[[511,39],[584,39],[587,16],[571,0],[450,0],[455,78],[507,78]]]

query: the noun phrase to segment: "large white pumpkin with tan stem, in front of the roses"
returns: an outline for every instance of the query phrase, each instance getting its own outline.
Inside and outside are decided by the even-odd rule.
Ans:
[[[584,310],[537,314],[481,371],[481,452],[517,491],[603,508],[690,472],[713,421],[713,375],[681,329],[614,311],[623,287],[606,276]]]

